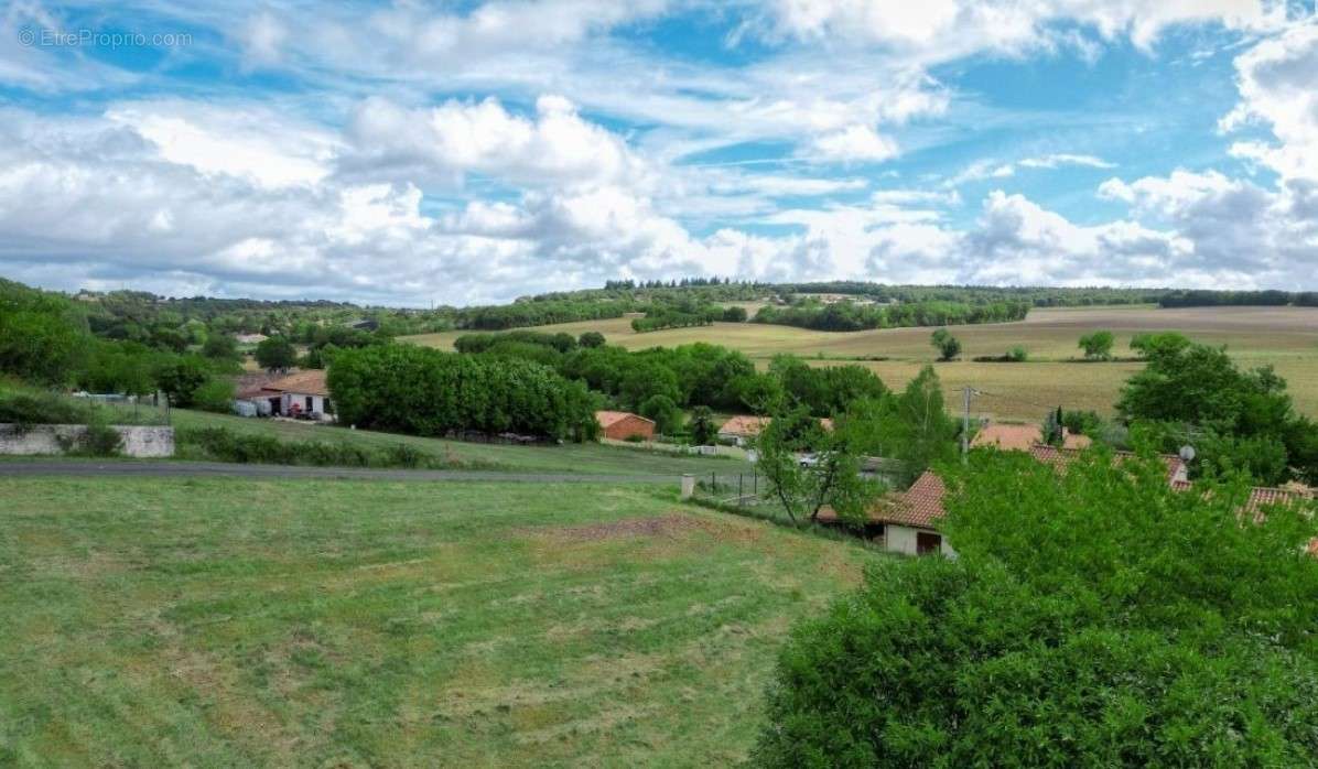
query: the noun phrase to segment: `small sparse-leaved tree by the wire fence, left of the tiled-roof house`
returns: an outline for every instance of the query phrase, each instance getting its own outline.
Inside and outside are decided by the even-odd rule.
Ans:
[[[847,429],[826,431],[809,410],[774,416],[755,438],[757,470],[793,521],[816,521],[825,504],[838,517],[863,521],[882,487],[861,478],[859,454]],[[812,462],[803,462],[803,456]]]

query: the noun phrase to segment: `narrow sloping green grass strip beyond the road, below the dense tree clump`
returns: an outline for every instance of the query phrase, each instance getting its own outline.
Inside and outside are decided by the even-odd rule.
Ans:
[[[480,469],[492,470],[623,475],[680,475],[684,473],[708,474],[710,471],[722,475],[750,471],[747,462],[729,457],[673,456],[660,450],[602,444],[565,444],[561,446],[476,444],[185,410],[175,410],[171,421],[177,428],[224,427],[237,433],[268,435],[281,440],[344,441],[366,448],[407,444],[436,457],[471,462]],[[190,457],[183,452],[179,458],[196,457]]]

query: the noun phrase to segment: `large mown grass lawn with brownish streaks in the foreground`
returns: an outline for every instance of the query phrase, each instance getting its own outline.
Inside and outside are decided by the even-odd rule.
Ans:
[[[0,765],[726,765],[880,557],[559,485],[0,479]]]

